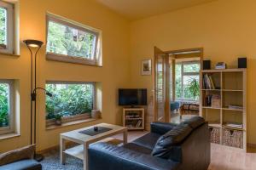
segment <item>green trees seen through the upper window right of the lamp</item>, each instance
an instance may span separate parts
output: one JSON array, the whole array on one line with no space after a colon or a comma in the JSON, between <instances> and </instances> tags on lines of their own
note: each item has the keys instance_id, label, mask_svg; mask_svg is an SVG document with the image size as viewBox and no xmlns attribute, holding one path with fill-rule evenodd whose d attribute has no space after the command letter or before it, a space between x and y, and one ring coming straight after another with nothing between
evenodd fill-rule
<instances>
[{"instance_id":1,"label":"green trees seen through the upper window right of the lamp","mask_svg":"<svg viewBox=\"0 0 256 170\"><path fill-rule=\"evenodd\" d=\"M93 59L96 36L49 21L47 52Z\"/></svg>"}]
</instances>

